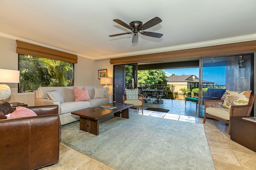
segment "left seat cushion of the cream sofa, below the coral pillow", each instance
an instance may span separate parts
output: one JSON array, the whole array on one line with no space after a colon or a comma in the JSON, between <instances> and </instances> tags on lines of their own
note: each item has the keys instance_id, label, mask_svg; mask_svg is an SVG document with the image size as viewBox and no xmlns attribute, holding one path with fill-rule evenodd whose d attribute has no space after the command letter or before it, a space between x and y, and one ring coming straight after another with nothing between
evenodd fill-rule
<instances>
[{"instance_id":1,"label":"left seat cushion of the cream sofa, below the coral pillow","mask_svg":"<svg viewBox=\"0 0 256 170\"><path fill-rule=\"evenodd\" d=\"M60 104L60 114L70 113L72 111L86 109L90 107L90 102L65 102Z\"/></svg>"}]
</instances>

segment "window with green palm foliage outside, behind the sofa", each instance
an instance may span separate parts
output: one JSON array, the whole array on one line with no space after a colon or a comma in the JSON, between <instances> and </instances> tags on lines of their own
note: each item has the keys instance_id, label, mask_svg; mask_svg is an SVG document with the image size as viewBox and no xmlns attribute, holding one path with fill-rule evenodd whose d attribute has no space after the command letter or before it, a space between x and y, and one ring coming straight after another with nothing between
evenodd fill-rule
<instances>
[{"instance_id":1,"label":"window with green palm foliage outside, behind the sofa","mask_svg":"<svg viewBox=\"0 0 256 170\"><path fill-rule=\"evenodd\" d=\"M19 54L18 92L34 92L43 86L73 86L74 64Z\"/></svg>"}]
</instances>

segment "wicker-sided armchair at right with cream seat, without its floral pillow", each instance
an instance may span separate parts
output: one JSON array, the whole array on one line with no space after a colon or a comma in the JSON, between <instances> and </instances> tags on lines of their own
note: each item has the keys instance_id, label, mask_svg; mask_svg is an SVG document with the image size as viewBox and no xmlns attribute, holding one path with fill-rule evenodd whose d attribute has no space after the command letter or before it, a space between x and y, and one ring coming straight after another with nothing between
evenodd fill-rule
<instances>
[{"instance_id":1,"label":"wicker-sided armchair at right with cream seat, without its floral pillow","mask_svg":"<svg viewBox=\"0 0 256 170\"><path fill-rule=\"evenodd\" d=\"M206 121L206 117L212 117L218 121L223 121L229 124L228 134L230 135L230 117L232 116L250 116L252 111L252 106L254 104L255 95L251 94L249 98L248 104L243 105L231 105L229 108L224 108L223 104L225 101L223 100L205 100L204 101L204 121ZM241 101L238 99L238 102Z\"/></svg>"}]
</instances>

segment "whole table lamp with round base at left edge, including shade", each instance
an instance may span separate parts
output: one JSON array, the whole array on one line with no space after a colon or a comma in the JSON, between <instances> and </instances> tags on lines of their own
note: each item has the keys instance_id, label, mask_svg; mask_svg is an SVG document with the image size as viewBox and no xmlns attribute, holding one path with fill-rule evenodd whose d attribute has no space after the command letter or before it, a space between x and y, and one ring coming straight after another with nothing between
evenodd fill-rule
<instances>
[{"instance_id":1,"label":"whole table lamp with round base at left edge, including shade","mask_svg":"<svg viewBox=\"0 0 256 170\"><path fill-rule=\"evenodd\" d=\"M11 96L11 89L4 83L19 83L20 71L19 70L6 70L0 69L0 100L5 100ZM0 102L0 104L3 102Z\"/></svg>"}]
</instances>

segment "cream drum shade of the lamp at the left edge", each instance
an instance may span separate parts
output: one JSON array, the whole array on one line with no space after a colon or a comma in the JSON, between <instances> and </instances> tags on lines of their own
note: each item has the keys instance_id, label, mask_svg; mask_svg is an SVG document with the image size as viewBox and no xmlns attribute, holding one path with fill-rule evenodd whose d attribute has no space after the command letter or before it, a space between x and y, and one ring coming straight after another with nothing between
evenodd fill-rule
<instances>
[{"instance_id":1,"label":"cream drum shade of the lamp at the left edge","mask_svg":"<svg viewBox=\"0 0 256 170\"><path fill-rule=\"evenodd\" d=\"M20 71L19 70L6 70L0 69L0 82L1 83L19 83Z\"/></svg>"}]
</instances>

